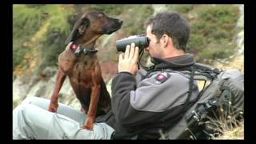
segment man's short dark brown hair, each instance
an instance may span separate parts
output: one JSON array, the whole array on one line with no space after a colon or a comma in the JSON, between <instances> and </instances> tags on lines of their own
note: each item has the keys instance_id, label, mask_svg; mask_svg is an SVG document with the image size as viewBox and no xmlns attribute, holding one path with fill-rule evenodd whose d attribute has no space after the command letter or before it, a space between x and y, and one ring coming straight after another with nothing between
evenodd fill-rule
<instances>
[{"instance_id":1,"label":"man's short dark brown hair","mask_svg":"<svg viewBox=\"0 0 256 144\"><path fill-rule=\"evenodd\" d=\"M186 51L186 43L190 37L190 26L186 19L178 13L158 13L150 18L146 25L152 25L151 33L156 35L158 40L163 34L172 38L174 47Z\"/></svg>"}]
</instances>

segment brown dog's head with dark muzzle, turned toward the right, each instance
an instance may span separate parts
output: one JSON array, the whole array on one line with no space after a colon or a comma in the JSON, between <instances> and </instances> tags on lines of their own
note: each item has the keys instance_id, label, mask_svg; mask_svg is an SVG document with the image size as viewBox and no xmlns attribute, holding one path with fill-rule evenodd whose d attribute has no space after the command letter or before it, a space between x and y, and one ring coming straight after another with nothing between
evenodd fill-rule
<instances>
[{"instance_id":1,"label":"brown dog's head with dark muzzle, turned toward the right","mask_svg":"<svg viewBox=\"0 0 256 144\"><path fill-rule=\"evenodd\" d=\"M80 38L86 34L87 30L94 34L112 34L122 26L122 20L110 18L100 11L91 11L82 14L82 17L75 22L70 36L66 39L66 44Z\"/></svg>"}]
</instances>

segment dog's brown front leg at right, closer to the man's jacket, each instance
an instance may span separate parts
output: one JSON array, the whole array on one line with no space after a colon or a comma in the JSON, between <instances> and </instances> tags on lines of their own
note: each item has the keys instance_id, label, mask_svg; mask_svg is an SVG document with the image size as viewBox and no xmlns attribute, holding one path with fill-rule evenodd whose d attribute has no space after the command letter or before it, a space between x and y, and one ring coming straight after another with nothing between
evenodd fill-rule
<instances>
[{"instance_id":1,"label":"dog's brown front leg at right, closer to the man's jacket","mask_svg":"<svg viewBox=\"0 0 256 144\"><path fill-rule=\"evenodd\" d=\"M86 122L82 126L85 129L92 130L94 128L94 120L98 107L98 99L100 94L100 85L93 86L90 94L90 106L87 113Z\"/></svg>"}]
</instances>

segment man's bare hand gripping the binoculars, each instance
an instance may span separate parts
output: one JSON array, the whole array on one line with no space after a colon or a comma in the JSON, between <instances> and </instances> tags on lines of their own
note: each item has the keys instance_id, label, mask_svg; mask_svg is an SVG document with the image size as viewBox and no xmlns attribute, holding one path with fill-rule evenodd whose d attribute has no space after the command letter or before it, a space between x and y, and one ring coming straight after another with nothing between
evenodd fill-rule
<instances>
[{"instance_id":1,"label":"man's bare hand gripping the binoculars","mask_svg":"<svg viewBox=\"0 0 256 144\"><path fill-rule=\"evenodd\" d=\"M135 47L134 43L126 46L125 53L119 55L118 73L129 72L136 74L138 71L138 46Z\"/></svg>"}]
</instances>

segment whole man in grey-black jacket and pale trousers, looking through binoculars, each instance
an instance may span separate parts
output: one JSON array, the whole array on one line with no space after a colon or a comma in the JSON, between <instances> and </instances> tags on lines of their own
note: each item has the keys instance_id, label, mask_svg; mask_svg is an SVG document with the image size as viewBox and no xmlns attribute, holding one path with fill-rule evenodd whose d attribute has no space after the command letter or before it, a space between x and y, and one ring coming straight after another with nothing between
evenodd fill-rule
<instances>
[{"instance_id":1,"label":"whole man in grey-black jacket and pale trousers, looking through binoculars","mask_svg":"<svg viewBox=\"0 0 256 144\"><path fill-rule=\"evenodd\" d=\"M112 82L112 109L98 117L94 130L80 128L84 114L60 105L57 114L46 111L49 101L28 98L13 112L13 138L155 139L175 125L198 95L196 83L178 70L191 70L186 54L190 28L176 13L150 18L146 47L154 66L138 70L138 47L126 46L119 55L118 74ZM45 110L44 110L45 109Z\"/></svg>"}]
</instances>

